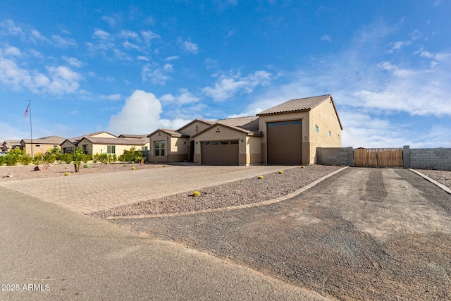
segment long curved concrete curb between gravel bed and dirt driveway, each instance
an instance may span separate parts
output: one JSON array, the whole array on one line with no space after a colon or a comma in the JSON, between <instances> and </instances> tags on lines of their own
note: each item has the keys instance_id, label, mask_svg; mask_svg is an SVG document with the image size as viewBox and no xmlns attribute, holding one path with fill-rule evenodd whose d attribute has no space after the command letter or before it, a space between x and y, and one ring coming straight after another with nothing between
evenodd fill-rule
<instances>
[{"instance_id":1,"label":"long curved concrete curb between gravel bed and dirt driveway","mask_svg":"<svg viewBox=\"0 0 451 301\"><path fill-rule=\"evenodd\" d=\"M340 171L344 171L348 167L349 166L345 166L343 168L338 169L337 171L333 171L332 173L328 173L326 176L323 176L322 178L319 178L318 180L315 180L315 181L311 182L309 185L305 185L303 188L299 188L298 190L296 190L294 192L291 192L288 195L283 195L282 197L277 197L276 199L268 199L267 201L262 201L262 202L258 202L258 203L242 204L242 205L237 205L237 206L230 206L230 207L224 207L224 208L215 208L215 209L203 209L203 210L199 210L199 211L176 212L176 213L168 213L168 214L142 214L142 215L131 215L131 216L109 216L109 217L106 218L106 220L115 220L115 219L152 219L152 218L156 218L156 217L187 216L187 215L194 215L194 214L202 214L202 213L210 213L210 212L221 212L221 211L232 211L232 210L238 210L238 209L266 206L268 204L274 204L274 203L277 203L277 202L284 201L285 199L290 199L292 197L295 197L296 195L299 195L301 192L304 192L305 190L309 190L310 188L314 187L314 185L322 182L323 180L326 180L326 178L330 178L331 176L335 175L336 173L339 173Z\"/></svg>"}]
</instances>

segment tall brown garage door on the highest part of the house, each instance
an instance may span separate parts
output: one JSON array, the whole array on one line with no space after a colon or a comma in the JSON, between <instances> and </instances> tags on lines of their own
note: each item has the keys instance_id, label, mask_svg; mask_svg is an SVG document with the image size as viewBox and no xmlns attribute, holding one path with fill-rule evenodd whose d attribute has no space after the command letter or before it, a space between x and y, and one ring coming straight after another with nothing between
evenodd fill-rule
<instances>
[{"instance_id":1,"label":"tall brown garage door on the highest part of the house","mask_svg":"<svg viewBox=\"0 0 451 301\"><path fill-rule=\"evenodd\" d=\"M302 121L266 124L268 164L302 164Z\"/></svg>"}]
</instances>

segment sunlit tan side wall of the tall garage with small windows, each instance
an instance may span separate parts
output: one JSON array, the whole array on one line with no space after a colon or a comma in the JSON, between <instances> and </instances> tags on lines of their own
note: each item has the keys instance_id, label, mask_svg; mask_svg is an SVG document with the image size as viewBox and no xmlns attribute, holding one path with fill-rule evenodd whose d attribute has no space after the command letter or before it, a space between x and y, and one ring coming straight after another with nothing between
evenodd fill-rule
<instances>
[{"instance_id":1,"label":"sunlit tan side wall of the tall garage with small windows","mask_svg":"<svg viewBox=\"0 0 451 301\"><path fill-rule=\"evenodd\" d=\"M315 132L316 125L319 127L319 133ZM331 101L322 102L310 111L309 135L310 164L316 163L317 147L341 147L342 130Z\"/></svg>"}]
</instances>

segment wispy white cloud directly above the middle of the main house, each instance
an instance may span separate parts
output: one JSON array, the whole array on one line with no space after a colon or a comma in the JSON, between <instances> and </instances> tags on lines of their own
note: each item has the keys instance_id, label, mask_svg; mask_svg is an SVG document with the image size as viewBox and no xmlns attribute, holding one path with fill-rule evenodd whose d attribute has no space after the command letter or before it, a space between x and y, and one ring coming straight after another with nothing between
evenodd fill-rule
<instances>
[{"instance_id":1,"label":"wispy white cloud directly above the middle of the main house","mask_svg":"<svg viewBox=\"0 0 451 301\"><path fill-rule=\"evenodd\" d=\"M264 70L256 71L245 77L237 74L222 74L213 87L205 87L202 91L217 102L223 102L238 92L252 92L258 85L266 85L271 80L271 73Z\"/></svg>"}]
</instances>

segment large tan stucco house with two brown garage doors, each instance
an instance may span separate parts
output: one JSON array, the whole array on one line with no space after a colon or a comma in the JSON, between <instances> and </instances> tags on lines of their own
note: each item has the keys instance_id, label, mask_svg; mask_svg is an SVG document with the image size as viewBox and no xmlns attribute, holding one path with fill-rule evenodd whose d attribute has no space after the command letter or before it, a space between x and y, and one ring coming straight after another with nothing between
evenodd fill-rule
<instances>
[{"instance_id":1,"label":"large tan stucco house with two brown garage doors","mask_svg":"<svg viewBox=\"0 0 451 301\"><path fill-rule=\"evenodd\" d=\"M317 147L341 147L342 124L330 94L292 99L257 116L194 120L149 136L151 161L210 165L316 163Z\"/></svg>"}]
</instances>

